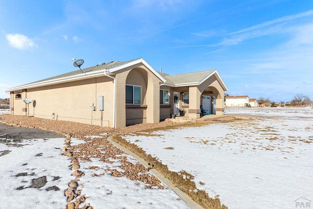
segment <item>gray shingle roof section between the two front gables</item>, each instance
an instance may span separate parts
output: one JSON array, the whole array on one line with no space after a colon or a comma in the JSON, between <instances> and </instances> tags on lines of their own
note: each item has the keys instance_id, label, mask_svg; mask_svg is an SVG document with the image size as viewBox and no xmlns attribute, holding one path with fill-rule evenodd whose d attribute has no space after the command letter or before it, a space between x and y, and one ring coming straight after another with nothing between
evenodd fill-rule
<instances>
[{"instance_id":1,"label":"gray shingle roof section between the two front gables","mask_svg":"<svg viewBox=\"0 0 313 209\"><path fill-rule=\"evenodd\" d=\"M165 78L166 83L183 84L183 83L200 82L214 71L215 70L204 70L204 71L199 71L199 72L189 72L189 73L176 74L176 75L169 75L163 72L157 72L157 73L159 73L163 78Z\"/></svg>"}]
</instances>

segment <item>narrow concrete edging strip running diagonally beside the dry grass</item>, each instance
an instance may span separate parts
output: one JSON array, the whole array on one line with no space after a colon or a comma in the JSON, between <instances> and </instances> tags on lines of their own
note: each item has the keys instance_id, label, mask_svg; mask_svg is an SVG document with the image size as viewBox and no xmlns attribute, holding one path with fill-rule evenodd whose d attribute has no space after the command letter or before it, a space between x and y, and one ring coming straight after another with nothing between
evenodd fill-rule
<instances>
[{"instance_id":1,"label":"narrow concrete edging strip running diagonally beside the dry grass","mask_svg":"<svg viewBox=\"0 0 313 209\"><path fill-rule=\"evenodd\" d=\"M139 161L141 164L143 164L146 168L148 168L148 163L145 162L142 158L131 152L130 150L126 149L125 147L121 146L120 144L112 141L111 137L107 139L110 141L113 145L119 147L121 150L125 151L129 155L133 156L137 161ZM176 194L179 195L179 197L187 203L188 206L190 206L192 209L203 209L198 203L193 201L189 196L187 196L185 193L183 193L179 188L175 187L172 182L170 182L168 179L166 179L162 174L160 174L156 169L152 168L149 170L153 175L156 176L164 185L172 189Z\"/></svg>"}]
</instances>

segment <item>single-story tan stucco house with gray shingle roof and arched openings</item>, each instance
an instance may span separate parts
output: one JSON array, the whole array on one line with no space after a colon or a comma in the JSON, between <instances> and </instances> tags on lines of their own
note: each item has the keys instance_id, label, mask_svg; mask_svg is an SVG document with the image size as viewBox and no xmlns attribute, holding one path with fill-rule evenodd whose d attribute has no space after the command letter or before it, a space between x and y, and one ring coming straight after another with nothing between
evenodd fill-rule
<instances>
[{"instance_id":1,"label":"single-story tan stucco house with gray shingle roof and arched openings","mask_svg":"<svg viewBox=\"0 0 313 209\"><path fill-rule=\"evenodd\" d=\"M10 93L12 115L118 128L158 123L179 111L200 118L203 103L210 104L211 114L224 115L224 91L217 70L168 75L139 58L103 63L5 92ZM27 105L25 98L33 102Z\"/></svg>"}]
</instances>

